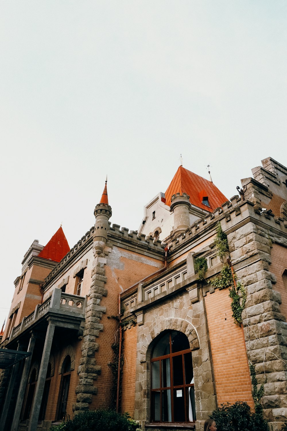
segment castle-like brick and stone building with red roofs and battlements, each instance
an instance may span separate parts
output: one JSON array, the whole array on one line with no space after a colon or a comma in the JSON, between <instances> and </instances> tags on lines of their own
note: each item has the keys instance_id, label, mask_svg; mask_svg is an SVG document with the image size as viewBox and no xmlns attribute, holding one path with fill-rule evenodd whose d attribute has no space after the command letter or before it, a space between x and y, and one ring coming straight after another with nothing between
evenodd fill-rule
<instances>
[{"instance_id":1,"label":"castle-like brick and stone building with red roofs and battlements","mask_svg":"<svg viewBox=\"0 0 287 431\"><path fill-rule=\"evenodd\" d=\"M228 200L180 166L138 231L109 223L105 185L74 247L62 227L45 247L34 240L0 334L1 430L47 431L105 407L145 431L199 431L221 403L254 408L250 364L281 429L287 168L269 157L252 173Z\"/></svg>"}]
</instances>

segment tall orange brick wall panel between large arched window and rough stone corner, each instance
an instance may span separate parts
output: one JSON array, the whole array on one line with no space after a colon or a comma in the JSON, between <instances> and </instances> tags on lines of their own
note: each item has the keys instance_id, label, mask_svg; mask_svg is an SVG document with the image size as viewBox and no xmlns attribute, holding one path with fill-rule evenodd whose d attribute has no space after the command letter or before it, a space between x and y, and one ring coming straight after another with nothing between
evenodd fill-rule
<instances>
[{"instance_id":1,"label":"tall orange brick wall panel between large arched window and rough stone corner","mask_svg":"<svg viewBox=\"0 0 287 431\"><path fill-rule=\"evenodd\" d=\"M243 331L234 323L228 294L216 289L205 297L217 402L246 401L253 407Z\"/></svg>"}]
</instances>

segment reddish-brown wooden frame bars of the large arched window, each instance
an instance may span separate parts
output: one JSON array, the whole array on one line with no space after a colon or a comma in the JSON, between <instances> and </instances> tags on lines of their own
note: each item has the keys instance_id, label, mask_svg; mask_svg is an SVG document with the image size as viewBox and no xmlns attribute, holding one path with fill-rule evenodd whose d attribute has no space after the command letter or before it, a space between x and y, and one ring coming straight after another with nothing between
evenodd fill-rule
<instances>
[{"instance_id":1,"label":"reddish-brown wooden frame bars of the large arched window","mask_svg":"<svg viewBox=\"0 0 287 431\"><path fill-rule=\"evenodd\" d=\"M178 331L176 331L178 332ZM153 424L188 424L191 426L195 425L195 420L193 422L190 422L188 420L188 408L187 408L187 390L189 387L194 388L194 383L186 384L185 383L185 363L184 363L184 355L186 353L191 353L190 349L181 350L179 352L172 353L172 331L169 331L170 335L170 353L163 356L157 356L156 358L151 358L151 398L150 398L150 412L151 412L151 418L150 423ZM160 340L158 340L158 343L160 343ZM183 384L181 385L173 385L173 358L175 356L182 356L182 372L183 372ZM162 360L163 359L170 359L170 386L163 387L162 386ZM153 362L159 362L159 378L160 378L160 387L158 388L152 388L152 363ZM185 421L182 422L175 422L174 421L174 390L181 389L183 391L183 397L184 397L184 409L185 409ZM171 422L163 421L163 391L164 390L170 390L170 397L171 397ZM153 402L153 393L160 392L160 420L155 421L154 418L154 402Z\"/></svg>"}]
</instances>

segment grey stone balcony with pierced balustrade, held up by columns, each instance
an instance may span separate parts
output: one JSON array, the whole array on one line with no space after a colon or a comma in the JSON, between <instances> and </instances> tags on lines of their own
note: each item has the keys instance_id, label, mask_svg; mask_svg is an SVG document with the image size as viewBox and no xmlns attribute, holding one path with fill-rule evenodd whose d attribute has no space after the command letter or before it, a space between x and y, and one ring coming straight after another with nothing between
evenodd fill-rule
<instances>
[{"instance_id":1,"label":"grey stone balcony with pierced balustrade, held up by columns","mask_svg":"<svg viewBox=\"0 0 287 431\"><path fill-rule=\"evenodd\" d=\"M86 302L87 297L69 295L63 293L61 289L54 289L49 298L38 304L31 314L12 329L8 343L31 329L46 327L48 318L53 319L56 326L80 330L85 320Z\"/></svg>"}]
</instances>

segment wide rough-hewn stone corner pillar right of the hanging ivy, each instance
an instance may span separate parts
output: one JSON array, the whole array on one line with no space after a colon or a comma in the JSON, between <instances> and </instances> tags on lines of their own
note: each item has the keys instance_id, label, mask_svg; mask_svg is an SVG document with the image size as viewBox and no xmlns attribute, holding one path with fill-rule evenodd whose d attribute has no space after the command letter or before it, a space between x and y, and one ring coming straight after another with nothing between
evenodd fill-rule
<instances>
[{"instance_id":1,"label":"wide rough-hewn stone corner pillar right of the hanging ivy","mask_svg":"<svg viewBox=\"0 0 287 431\"><path fill-rule=\"evenodd\" d=\"M232 264L247 290L242 312L245 343L259 384L264 384L263 414L273 431L287 418L287 325L280 313L281 295L269 271L273 233L247 222L228 234Z\"/></svg>"}]
</instances>

